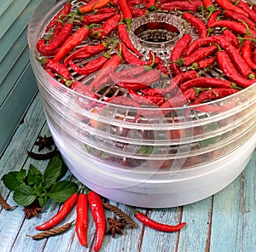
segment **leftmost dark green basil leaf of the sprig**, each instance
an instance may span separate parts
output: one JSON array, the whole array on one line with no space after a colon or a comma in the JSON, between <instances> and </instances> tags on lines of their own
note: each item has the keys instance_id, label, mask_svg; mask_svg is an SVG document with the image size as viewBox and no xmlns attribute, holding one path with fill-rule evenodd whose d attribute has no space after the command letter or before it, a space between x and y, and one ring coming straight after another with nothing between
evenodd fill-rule
<instances>
[{"instance_id":1,"label":"leftmost dark green basil leaf of the sprig","mask_svg":"<svg viewBox=\"0 0 256 252\"><path fill-rule=\"evenodd\" d=\"M25 186L26 170L21 169L20 171L11 171L6 175L3 175L2 180L4 186L8 187L9 190L15 191L20 186Z\"/></svg>"}]
</instances>

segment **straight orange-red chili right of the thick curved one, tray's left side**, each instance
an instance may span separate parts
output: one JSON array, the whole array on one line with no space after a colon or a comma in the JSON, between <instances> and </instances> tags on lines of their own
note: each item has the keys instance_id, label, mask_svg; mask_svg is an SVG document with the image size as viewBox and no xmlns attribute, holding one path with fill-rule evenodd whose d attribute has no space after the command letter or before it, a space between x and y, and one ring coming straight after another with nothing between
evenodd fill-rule
<instances>
[{"instance_id":1,"label":"straight orange-red chili right of the thick curved one, tray's left side","mask_svg":"<svg viewBox=\"0 0 256 252\"><path fill-rule=\"evenodd\" d=\"M83 26L79 30L75 31L72 36L68 37L66 42L61 45L61 48L55 54L53 60L62 60L71 50L81 43L85 37L90 34L88 26Z\"/></svg>"}]
</instances>

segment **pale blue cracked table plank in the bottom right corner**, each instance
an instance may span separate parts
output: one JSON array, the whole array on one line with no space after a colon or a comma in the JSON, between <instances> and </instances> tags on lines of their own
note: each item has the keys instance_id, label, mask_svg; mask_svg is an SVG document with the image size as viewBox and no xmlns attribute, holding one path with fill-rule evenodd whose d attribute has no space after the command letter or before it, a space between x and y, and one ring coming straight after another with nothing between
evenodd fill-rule
<instances>
[{"instance_id":1,"label":"pale blue cracked table plank in the bottom right corner","mask_svg":"<svg viewBox=\"0 0 256 252\"><path fill-rule=\"evenodd\" d=\"M211 252L255 250L255 167L256 150L242 174L214 196Z\"/></svg>"}]
</instances>

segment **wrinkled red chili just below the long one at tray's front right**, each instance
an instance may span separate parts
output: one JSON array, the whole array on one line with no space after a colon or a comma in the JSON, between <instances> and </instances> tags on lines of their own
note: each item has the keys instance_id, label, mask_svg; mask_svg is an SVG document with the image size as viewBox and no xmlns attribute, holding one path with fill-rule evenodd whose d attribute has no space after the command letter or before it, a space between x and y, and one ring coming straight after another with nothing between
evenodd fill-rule
<instances>
[{"instance_id":1,"label":"wrinkled red chili just below the long one at tray's front right","mask_svg":"<svg viewBox=\"0 0 256 252\"><path fill-rule=\"evenodd\" d=\"M209 90L201 91L193 101L193 105L201 104L202 102L206 102L206 101L218 100L218 99L227 97L231 94L236 94L236 92L238 92L237 89L225 89L225 88L209 89Z\"/></svg>"}]
</instances>

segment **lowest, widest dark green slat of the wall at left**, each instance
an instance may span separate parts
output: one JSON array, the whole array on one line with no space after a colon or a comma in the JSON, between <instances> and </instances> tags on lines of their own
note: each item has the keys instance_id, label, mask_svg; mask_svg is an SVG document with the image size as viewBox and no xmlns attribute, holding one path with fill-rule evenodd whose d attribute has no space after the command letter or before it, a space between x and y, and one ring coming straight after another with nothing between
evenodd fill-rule
<instances>
[{"instance_id":1,"label":"lowest, widest dark green slat of the wall at left","mask_svg":"<svg viewBox=\"0 0 256 252\"><path fill-rule=\"evenodd\" d=\"M37 90L32 68L27 65L15 83L14 89L0 107L0 153L9 142L10 136L20 123L21 117L26 112L26 108Z\"/></svg>"}]
</instances>

